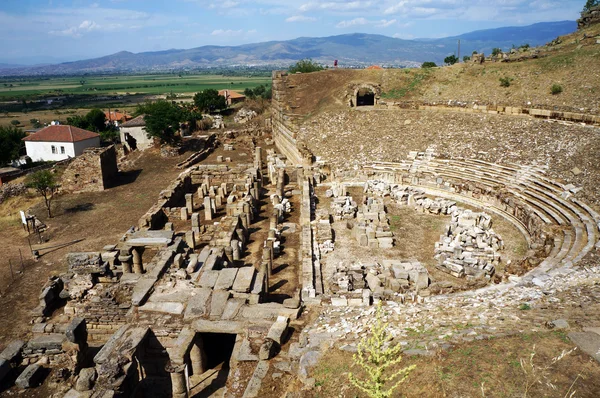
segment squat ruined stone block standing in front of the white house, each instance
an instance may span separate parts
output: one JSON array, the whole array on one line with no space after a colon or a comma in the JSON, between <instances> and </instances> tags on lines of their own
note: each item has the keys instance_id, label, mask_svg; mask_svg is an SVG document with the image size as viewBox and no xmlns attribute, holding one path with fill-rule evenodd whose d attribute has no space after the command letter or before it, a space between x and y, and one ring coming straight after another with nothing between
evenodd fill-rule
<instances>
[{"instance_id":1,"label":"squat ruined stone block standing in front of the white house","mask_svg":"<svg viewBox=\"0 0 600 398\"><path fill-rule=\"evenodd\" d=\"M88 148L67 167L62 188L70 192L95 192L109 188L118 173L115 146Z\"/></svg>"}]
</instances>

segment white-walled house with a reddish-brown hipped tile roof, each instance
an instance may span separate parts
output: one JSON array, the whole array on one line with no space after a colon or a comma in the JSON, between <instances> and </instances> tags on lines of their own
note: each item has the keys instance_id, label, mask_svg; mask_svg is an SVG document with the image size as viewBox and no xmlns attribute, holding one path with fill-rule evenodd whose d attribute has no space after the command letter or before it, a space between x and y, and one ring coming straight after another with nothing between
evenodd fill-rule
<instances>
[{"instance_id":1,"label":"white-walled house with a reddish-brown hipped tile roof","mask_svg":"<svg viewBox=\"0 0 600 398\"><path fill-rule=\"evenodd\" d=\"M68 125L48 126L23 138L27 156L34 162L79 156L85 148L99 147L100 135Z\"/></svg>"}]
</instances>

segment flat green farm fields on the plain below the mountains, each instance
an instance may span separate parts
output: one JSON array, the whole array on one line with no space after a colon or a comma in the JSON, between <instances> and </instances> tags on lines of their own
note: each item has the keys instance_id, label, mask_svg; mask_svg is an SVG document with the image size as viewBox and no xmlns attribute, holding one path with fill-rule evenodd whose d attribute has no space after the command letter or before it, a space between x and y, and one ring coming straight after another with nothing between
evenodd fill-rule
<instances>
[{"instance_id":1,"label":"flat green farm fields on the plain below the mountains","mask_svg":"<svg viewBox=\"0 0 600 398\"><path fill-rule=\"evenodd\" d=\"M10 78L0 79L0 98L30 99L63 94L185 94L207 88L241 92L260 84L271 84L271 78L206 74Z\"/></svg>"}]
</instances>

